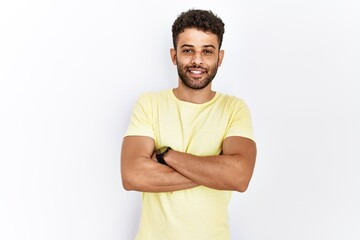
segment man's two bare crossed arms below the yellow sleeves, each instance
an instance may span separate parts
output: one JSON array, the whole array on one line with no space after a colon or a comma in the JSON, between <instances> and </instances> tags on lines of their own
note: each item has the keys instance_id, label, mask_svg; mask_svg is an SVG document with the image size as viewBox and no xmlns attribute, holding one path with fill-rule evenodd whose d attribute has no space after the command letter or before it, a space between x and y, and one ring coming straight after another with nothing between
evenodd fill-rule
<instances>
[{"instance_id":1,"label":"man's two bare crossed arms below the yellow sleeves","mask_svg":"<svg viewBox=\"0 0 360 240\"><path fill-rule=\"evenodd\" d=\"M256 144L243 137L224 140L222 154L195 156L170 150L160 164L154 157L154 140L127 136L121 151L121 176L126 190L172 192L199 185L244 192L251 180Z\"/></svg>"}]
</instances>

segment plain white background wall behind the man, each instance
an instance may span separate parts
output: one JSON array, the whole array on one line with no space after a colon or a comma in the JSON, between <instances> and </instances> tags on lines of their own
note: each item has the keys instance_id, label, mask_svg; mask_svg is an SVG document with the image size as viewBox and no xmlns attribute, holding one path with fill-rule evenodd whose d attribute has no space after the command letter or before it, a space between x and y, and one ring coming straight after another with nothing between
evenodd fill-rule
<instances>
[{"instance_id":1,"label":"plain white background wall behind the man","mask_svg":"<svg viewBox=\"0 0 360 240\"><path fill-rule=\"evenodd\" d=\"M226 24L213 87L245 99L258 144L233 239L360 239L356 0L1 1L0 239L133 239L122 136L140 93L176 86L171 25L193 7Z\"/></svg>"}]
</instances>

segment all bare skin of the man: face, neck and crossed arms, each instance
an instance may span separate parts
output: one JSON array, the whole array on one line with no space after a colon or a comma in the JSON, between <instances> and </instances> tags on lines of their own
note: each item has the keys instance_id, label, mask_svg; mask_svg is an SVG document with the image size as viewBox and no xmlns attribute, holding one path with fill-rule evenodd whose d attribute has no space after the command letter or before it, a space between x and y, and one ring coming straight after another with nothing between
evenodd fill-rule
<instances>
[{"instance_id":1,"label":"all bare skin of the man: face, neck and crossed arms","mask_svg":"<svg viewBox=\"0 0 360 240\"><path fill-rule=\"evenodd\" d=\"M178 68L175 96L195 104L215 96L211 80L221 66L224 51L217 36L194 28L178 37L176 49L170 49L171 60ZM196 186L218 190L246 191L251 180L256 144L244 137L228 137L222 154L195 156L170 150L164 157L169 166L156 161L154 140L145 136L127 136L121 151L121 176L126 190L172 192Z\"/></svg>"}]
</instances>

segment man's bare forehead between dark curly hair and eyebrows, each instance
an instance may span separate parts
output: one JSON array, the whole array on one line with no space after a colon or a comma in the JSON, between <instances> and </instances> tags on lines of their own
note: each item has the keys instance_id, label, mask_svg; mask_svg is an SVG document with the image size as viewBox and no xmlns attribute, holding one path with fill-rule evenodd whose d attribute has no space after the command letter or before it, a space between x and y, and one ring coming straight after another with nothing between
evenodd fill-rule
<instances>
[{"instance_id":1,"label":"man's bare forehead between dark curly hair and eyebrows","mask_svg":"<svg viewBox=\"0 0 360 240\"><path fill-rule=\"evenodd\" d=\"M204 32L196 28L187 28L178 36L177 47L182 45L192 45L194 47L213 45L218 48L219 41L214 33Z\"/></svg>"}]
</instances>

